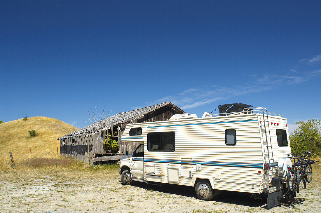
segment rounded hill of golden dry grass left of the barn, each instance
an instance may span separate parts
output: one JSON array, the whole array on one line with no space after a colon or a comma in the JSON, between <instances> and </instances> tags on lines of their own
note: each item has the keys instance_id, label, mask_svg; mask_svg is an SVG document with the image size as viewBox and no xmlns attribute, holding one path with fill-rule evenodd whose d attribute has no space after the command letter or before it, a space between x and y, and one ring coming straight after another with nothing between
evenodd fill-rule
<instances>
[{"instance_id":1,"label":"rounded hill of golden dry grass left of the barn","mask_svg":"<svg viewBox=\"0 0 321 213\"><path fill-rule=\"evenodd\" d=\"M30 137L28 131L36 130L38 136ZM56 139L70 132L78 130L55 118L30 117L22 118L0 124L0 156L2 161L10 160L9 151L13 158L19 162L31 157L56 157L59 141ZM59 150L59 149L58 149Z\"/></svg>"}]
</instances>

